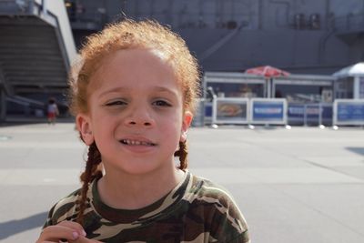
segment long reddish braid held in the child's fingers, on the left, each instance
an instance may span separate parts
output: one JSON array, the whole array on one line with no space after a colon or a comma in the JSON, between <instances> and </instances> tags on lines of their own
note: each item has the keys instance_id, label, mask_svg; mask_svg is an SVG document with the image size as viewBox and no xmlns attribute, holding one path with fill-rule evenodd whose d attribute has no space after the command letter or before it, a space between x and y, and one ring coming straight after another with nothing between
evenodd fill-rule
<instances>
[{"instance_id":1,"label":"long reddish braid held in the child's fingers, on the left","mask_svg":"<svg viewBox=\"0 0 364 243\"><path fill-rule=\"evenodd\" d=\"M76 222L81 224L84 220L84 212L86 209L86 195L88 191L89 184L95 179L102 177L101 170L98 169L99 164L101 163L101 155L98 151L96 143L92 143L90 147L88 147L87 153L87 161L86 161L86 169L84 173L81 174L80 180L83 183L81 188L81 199L79 199L76 203L79 207L79 212L76 218Z\"/></svg>"}]
</instances>

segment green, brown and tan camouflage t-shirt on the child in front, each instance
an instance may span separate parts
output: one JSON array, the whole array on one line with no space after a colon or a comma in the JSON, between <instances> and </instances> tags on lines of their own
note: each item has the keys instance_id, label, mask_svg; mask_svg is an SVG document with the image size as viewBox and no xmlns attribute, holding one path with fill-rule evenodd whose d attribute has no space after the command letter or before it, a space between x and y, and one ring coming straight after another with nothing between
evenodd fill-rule
<instances>
[{"instance_id":1,"label":"green, brown and tan camouflage t-shirt on the child in front","mask_svg":"<svg viewBox=\"0 0 364 243\"><path fill-rule=\"evenodd\" d=\"M50 210L45 227L75 220L79 190ZM146 208L126 210L104 204L94 181L87 192L87 238L102 242L250 242L248 227L225 189L187 172L167 196Z\"/></svg>"}]
</instances>

